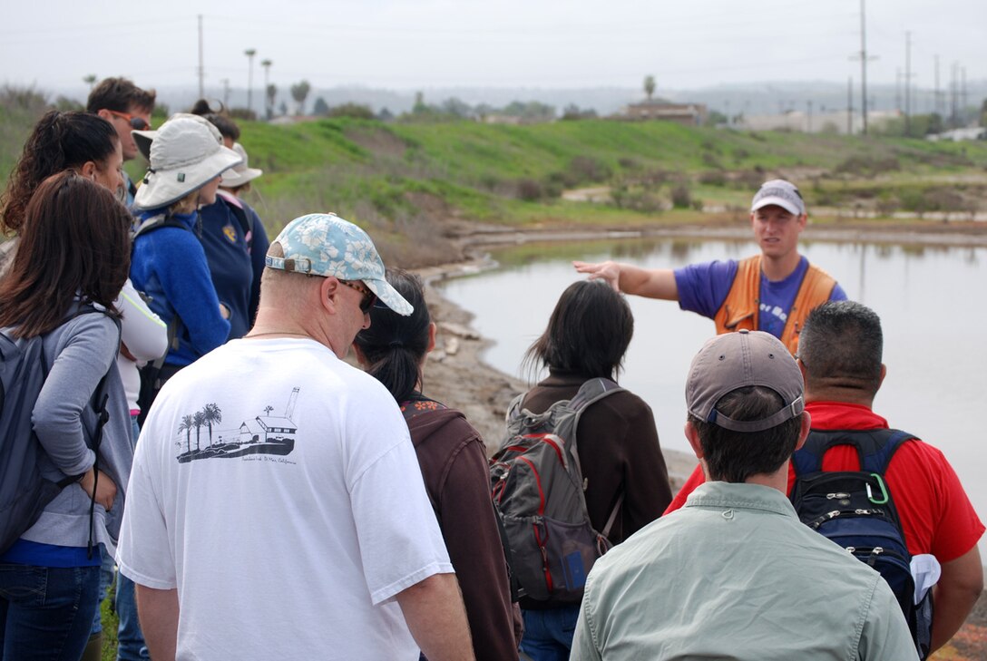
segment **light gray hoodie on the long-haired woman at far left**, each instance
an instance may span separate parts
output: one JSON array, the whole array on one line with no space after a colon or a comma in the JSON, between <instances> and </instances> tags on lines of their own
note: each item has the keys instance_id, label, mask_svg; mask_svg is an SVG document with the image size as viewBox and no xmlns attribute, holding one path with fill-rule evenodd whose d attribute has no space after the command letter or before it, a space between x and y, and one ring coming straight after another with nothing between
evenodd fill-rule
<instances>
[{"instance_id":1,"label":"light gray hoodie on the long-haired woman at far left","mask_svg":"<svg viewBox=\"0 0 987 661\"><path fill-rule=\"evenodd\" d=\"M103 428L99 468L114 480L116 499L109 513L96 505L93 543L103 544L114 553L133 462L126 396L119 373L115 367L110 369L119 350L119 331L106 315L85 314L47 333L43 346L48 376L32 421L46 453L40 459L41 474L49 479L77 476L93 467L96 455L89 446L97 415L92 402L100 379L109 370L106 393L110 419ZM69 484L21 538L41 544L85 547L89 541L89 504L90 498L82 487Z\"/></svg>"}]
</instances>

